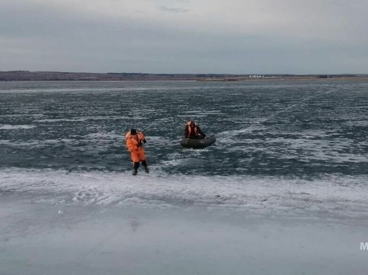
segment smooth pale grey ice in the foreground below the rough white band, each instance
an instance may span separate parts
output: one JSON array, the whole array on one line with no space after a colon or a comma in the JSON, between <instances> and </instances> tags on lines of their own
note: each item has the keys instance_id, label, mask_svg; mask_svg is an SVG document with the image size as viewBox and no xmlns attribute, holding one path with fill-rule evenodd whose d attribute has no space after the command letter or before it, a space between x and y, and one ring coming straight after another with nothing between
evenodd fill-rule
<instances>
[{"instance_id":1,"label":"smooth pale grey ice in the foreground below the rough white band","mask_svg":"<svg viewBox=\"0 0 368 275\"><path fill-rule=\"evenodd\" d=\"M21 198L1 200L0 216L4 275L368 273L368 251L360 250L367 221L77 207Z\"/></svg>"}]
</instances>

